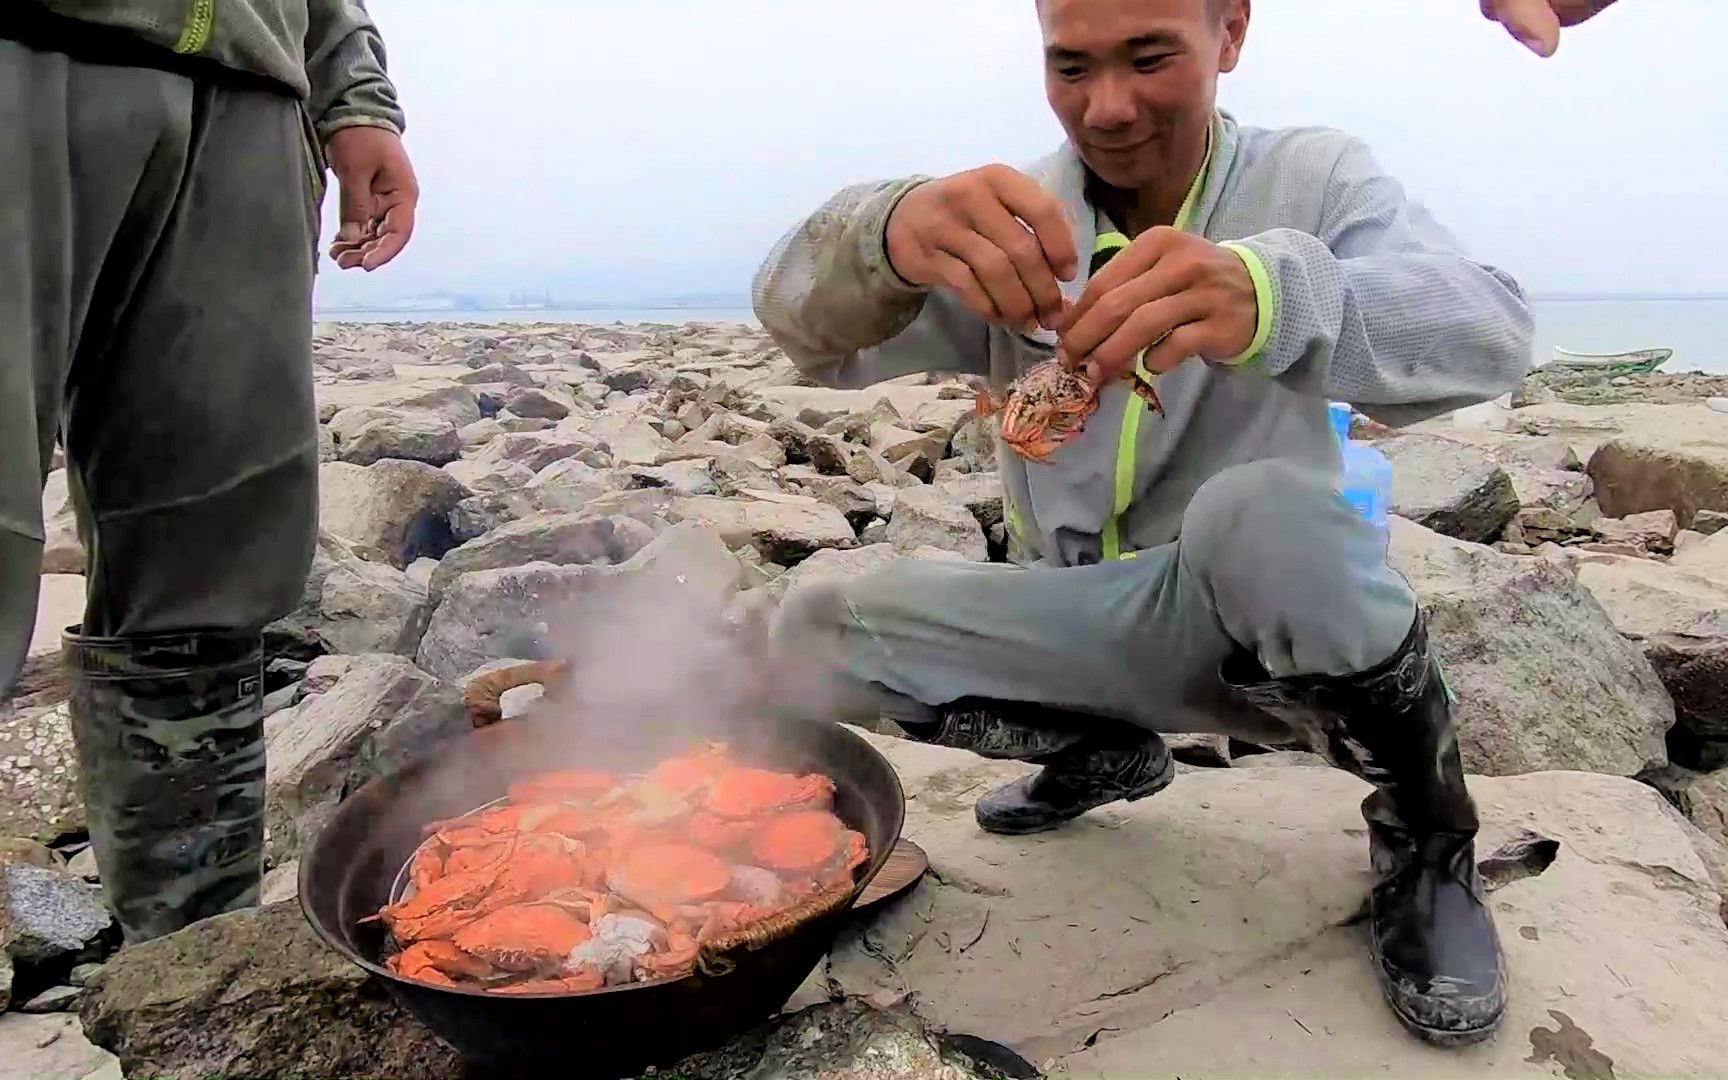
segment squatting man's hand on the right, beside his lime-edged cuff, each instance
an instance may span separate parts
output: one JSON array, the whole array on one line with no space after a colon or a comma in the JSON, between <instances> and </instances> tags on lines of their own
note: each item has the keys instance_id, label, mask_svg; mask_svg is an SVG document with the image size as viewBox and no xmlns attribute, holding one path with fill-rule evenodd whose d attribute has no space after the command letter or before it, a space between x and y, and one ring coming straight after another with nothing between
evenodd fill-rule
<instances>
[{"instance_id":1,"label":"squatting man's hand on the right, beside his lime-edged cuff","mask_svg":"<svg viewBox=\"0 0 1728 1080\"><path fill-rule=\"evenodd\" d=\"M1242 259L1211 240L1153 228L1087 282L1059 356L1099 382L1168 372L1189 356L1229 361L1255 342L1260 302Z\"/></svg>"}]
</instances>

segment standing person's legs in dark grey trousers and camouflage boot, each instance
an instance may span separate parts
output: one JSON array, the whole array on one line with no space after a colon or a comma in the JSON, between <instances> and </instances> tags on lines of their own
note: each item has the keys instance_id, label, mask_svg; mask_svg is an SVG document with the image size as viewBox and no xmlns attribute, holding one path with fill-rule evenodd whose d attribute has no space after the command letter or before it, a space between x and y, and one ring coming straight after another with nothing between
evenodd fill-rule
<instances>
[{"instance_id":1,"label":"standing person's legs in dark grey trousers and camouflage boot","mask_svg":"<svg viewBox=\"0 0 1728 1080\"><path fill-rule=\"evenodd\" d=\"M0 41L0 679L47 448L88 550L67 627L102 886L131 942L257 902L263 627L316 537L316 199L290 97Z\"/></svg>"}]
</instances>

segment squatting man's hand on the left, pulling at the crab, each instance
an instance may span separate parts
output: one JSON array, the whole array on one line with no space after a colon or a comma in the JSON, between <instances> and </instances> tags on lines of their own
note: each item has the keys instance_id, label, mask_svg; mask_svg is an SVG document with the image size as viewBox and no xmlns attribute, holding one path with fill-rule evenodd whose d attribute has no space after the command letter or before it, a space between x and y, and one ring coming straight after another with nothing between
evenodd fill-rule
<instances>
[{"instance_id":1,"label":"squatting man's hand on the left, pulling at the crab","mask_svg":"<svg viewBox=\"0 0 1728 1080\"><path fill-rule=\"evenodd\" d=\"M907 192L888 218L888 263L914 285L947 285L985 321L1021 330L1058 328L1066 308L1058 278L1080 271L1063 204L997 164Z\"/></svg>"}]
</instances>

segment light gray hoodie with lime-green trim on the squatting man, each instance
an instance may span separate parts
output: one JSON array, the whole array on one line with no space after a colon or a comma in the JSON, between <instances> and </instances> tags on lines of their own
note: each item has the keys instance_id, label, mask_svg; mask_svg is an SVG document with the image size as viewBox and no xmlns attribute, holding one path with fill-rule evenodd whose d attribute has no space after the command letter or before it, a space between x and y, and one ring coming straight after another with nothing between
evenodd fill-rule
<instances>
[{"instance_id":1,"label":"light gray hoodie with lime-green trim on the squatting man","mask_svg":"<svg viewBox=\"0 0 1728 1080\"><path fill-rule=\"evenodd\" d=\"M1071 145L1025 169L1066 207L1085 287L1101 213ZM992 327L949 292L888 266L885 226L928 176L847 187L788 232L757 271L757 318L810 377L864 387L962 372L997 387L1054 353L1047 334ZM1261 458L1336 472L1329 401L1407 425L1488 401L1529 368L1519 285L1465 256L1356 138L1263 130L1220 111L1177 228L1232 245L1261 325L1236 365L1191 358L1158 377L1165 413L1127 384L1104 387L1085 430L1047 463L999 449L1007 517L1028 560L1082 565L1173 541L1194 491Z\"/></svg>"}]
</instances>

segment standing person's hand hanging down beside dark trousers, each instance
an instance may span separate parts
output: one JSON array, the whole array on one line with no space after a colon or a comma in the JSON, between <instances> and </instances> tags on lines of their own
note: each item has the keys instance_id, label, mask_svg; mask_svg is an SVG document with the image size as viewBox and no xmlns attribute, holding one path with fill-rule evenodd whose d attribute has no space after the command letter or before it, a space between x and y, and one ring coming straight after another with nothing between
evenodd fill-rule
<instances>
[{"instance_id":1,"label":"standing person's hand hanging down beside dark trousers","mask_svg":"<svg viewBox=\"0 0 1728 1080\"><path fill-rule=\"evenodd\" d=\"M342 128L330 137L328 157L342 187L342 226L330 244L330 257L342 270L377 270L394 259L415 232L420 185L403 138L387 128Z\"/></svg>"}]
</instances>

